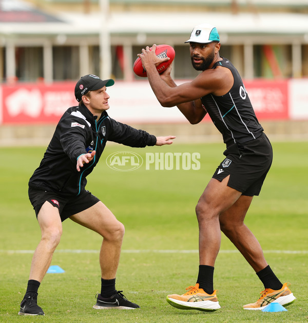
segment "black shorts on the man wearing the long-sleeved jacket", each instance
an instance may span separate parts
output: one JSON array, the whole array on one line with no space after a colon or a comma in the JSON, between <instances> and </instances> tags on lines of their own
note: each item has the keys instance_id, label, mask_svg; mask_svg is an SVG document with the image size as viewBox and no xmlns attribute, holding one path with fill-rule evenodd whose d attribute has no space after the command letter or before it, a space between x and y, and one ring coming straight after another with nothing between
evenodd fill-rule
<instances>
[{"instance_id":1,"label":"black shorts on the man wearing the long-sleeved jacket","mask_svg":"<svg viewBox=\"0 0 308 323\"><path fill-rule=\"evenodd\" d=\"M36 218L42 205L48 201L59 210L62 222L71 215L87 210L87 208L100 201L96 196L86 190L81 192L78 196L69 197L63 196L63 194L35 189L32 187L29 187L28 193Z\"/></svg>"}]
</instances>

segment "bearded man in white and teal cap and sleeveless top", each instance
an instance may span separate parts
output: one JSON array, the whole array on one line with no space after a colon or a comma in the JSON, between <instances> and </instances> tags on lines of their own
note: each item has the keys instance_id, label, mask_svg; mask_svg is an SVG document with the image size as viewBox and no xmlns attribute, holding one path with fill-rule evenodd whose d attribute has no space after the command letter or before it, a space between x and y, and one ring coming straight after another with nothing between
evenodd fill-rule
<instances>
[{"instance_id":1,"label":"bearded man in white and teal cap and sleeveless top","mask_svg":"<svg viewBox=\"0 0 308 323\"><path fill-rule=\"evenodd\" d=\"M138 56L158 101L177 106L191 124L208 113L226 144L225 158L215 170L196 206L199 222L199 274L195 286L183 295L168 295L179 309L216 311L220 308L213 288L215 260L221 231L234 243L264 284L264 291L247 310L262 310L275 301L287 306L295 300L288 284L282 284L266 262L261 246L244 224L255 195L259 195L271 167L272 146L259 124L239 72L219 55L220 39L215 26L196 26L185 43L190 45L192 66L201 73L191 82L176 85L171 65L159 74L156 66L166 59L155 55L156 45Z\"/></svg>"}]
</instances>

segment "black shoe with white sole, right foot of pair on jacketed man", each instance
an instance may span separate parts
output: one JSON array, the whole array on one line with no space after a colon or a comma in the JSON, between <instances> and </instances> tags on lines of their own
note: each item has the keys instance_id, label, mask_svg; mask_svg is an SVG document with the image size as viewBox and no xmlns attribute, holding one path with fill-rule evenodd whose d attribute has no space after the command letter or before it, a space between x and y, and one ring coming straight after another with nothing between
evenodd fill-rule
<instances>
[{"instance_id":1,"label":"black shoe with white sole, right foot of pair on jacketed man","mask_svg":"<svg viewBox=\"0 0 308 323\"><path fill-rule=\"evenodd\" d=\"M139 305L130 302L122 294L123 291L117 291L117 294L108 298L103 298L101 294L97 295L97 303L93 306L93 309L119 309L119 310L134 310L140 308Z\"/></svg>"}]
</instances>

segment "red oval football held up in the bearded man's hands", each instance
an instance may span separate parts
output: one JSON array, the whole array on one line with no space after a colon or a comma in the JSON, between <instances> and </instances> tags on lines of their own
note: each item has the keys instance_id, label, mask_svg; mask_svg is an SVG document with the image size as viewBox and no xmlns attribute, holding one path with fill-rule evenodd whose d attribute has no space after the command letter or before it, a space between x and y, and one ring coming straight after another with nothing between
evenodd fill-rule
<instances>
[{"instance_id":1,"label":"red oval football held up in the bearded man's hands","mask_svg":"<svg viewBox=\"0 0 308 323\"><path fill-rule=\"evenodd\" d=\"M151 49L152 47L150 48L150 50ZM176 52L174 48L169 45L157 45L155 53L159 58L170 58L169 61L163 62L156 67L157 71L159 73L162 73L172 63L175 58ZM142 66L140 57L138 57L137 60L133 63L133 71L139 77L147 77L146 70Z\"/></svg>"}]
</instances>

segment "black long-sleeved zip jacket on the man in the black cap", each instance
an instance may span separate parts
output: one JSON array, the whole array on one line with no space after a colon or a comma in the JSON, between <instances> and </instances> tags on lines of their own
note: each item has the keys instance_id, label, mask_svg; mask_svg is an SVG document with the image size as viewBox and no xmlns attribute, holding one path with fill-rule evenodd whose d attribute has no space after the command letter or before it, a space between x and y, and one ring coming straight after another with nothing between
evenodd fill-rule
<instances>
[{"instance_id":1,"label":"black long-sleeved zip jacket on the man in the black cap","mask_svg":"<svg viewBox=\"0 0 308 323\"><path fill-rule=\"evenodd\" d=\"M63 195L79 195L86 186L86 176L97 165L107 141L145 147L155 145L156 137L111 119L106 111L96 120L83 104L71 107L57 124L29 186ZM92 150L96 151L94 158L78 172L78 158Z\"/></svg>"}]
</instances>

